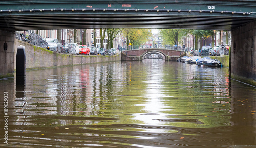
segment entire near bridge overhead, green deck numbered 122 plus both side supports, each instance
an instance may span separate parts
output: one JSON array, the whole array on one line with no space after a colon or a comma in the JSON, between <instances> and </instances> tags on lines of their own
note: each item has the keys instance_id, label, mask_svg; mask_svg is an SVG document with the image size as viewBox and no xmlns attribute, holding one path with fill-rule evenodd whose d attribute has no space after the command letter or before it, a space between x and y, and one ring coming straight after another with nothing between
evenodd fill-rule
<instances>
[{"instance_id":1,"label":"entire near bridge overhead, green deck numbered 122 plus both side supports","mask_svg":"<svg viewBox=\"0 0 256 148\"><path fill-rule=\"evenodd\" d=\"M8 48L0 50L0 75L14 72L16 30L212 29L232 31L231 77L256 85L255 13L254 0L1 1L0 46Z\"/></svg>"}]
</instances>

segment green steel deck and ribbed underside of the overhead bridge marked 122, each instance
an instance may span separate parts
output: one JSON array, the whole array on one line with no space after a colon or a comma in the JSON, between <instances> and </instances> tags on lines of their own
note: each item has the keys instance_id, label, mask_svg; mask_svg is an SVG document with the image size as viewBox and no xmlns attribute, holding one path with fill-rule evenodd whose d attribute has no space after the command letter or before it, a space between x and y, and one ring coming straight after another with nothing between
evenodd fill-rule
<instances>
[{"instance_id":1,"label":"green steel deck and ribbed underside of the overhead bridge marked 122","mask_svg":"<svg viewBox=\"0 0 256 148\"><path fill-rule=\"evenodd\" d=\"M254 0L1 1L0 30L177 28L234 30L256 18Z\"/></svg>"}]
</instances>

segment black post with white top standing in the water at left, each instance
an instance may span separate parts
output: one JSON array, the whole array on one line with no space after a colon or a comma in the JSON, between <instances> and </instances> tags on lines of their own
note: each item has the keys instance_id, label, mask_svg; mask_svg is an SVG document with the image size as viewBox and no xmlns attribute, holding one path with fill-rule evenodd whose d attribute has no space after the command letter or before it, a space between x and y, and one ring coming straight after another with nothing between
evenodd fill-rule
<instances>
[{"instance_id":1,"label":"black post with white top standing in the water at left","mask_svg":"<svg viewBox=\"0 0 256 148\"><path fill-rule=\"evenodd\" d=\"M18 46L16 55L16 76L25 77L26 76L26 54L25 47Z\"/></svg>"}]
</instances>

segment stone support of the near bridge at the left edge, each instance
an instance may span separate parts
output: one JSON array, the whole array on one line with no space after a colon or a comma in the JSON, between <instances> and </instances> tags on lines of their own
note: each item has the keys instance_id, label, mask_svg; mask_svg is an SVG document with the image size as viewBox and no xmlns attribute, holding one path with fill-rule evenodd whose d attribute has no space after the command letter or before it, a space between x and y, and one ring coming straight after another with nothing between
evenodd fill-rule
<instances>
[{"instance_id":1,"label":"stone support of the near bridge at the left edge","mask_svg":"<svg viewBox=\"0 0 256 148\"><path fill-rule=\"evenodd\" d=\"M14 77L14 40L14 33L0 31L0 78Z\"/></svg>"}]
</instances>

